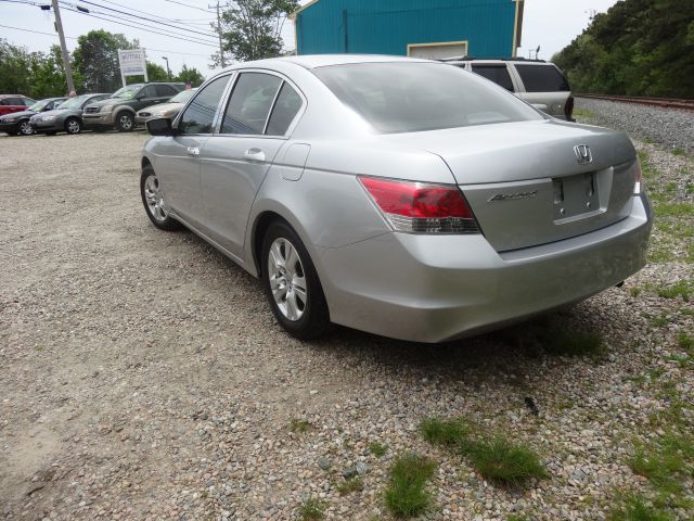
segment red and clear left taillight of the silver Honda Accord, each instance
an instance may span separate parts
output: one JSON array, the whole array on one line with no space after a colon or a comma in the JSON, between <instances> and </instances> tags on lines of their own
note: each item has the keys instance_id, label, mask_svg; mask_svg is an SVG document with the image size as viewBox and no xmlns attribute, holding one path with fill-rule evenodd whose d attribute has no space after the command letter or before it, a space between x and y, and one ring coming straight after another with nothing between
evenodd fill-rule
<instances>
[{"instance_id":1,"label":"red and clear left taillight of the silver Honda Accord","mask_svg":"<svg viewBox=\"0 0 694 521\"><path fill-rule=\"evenodd\" d=\"M359 180L397 231L479 233L475 216L455 186L375 177Z\"/></svg>"}]
</instances>

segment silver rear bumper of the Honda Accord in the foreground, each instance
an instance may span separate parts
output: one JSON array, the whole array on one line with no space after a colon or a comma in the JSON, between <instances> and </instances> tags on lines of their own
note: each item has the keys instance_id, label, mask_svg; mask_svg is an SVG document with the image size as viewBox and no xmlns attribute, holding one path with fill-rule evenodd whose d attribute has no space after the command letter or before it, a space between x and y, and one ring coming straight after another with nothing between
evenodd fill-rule
<instances>
[{"instance_id":1,"label":"silver rear bumper of the Honda Accord in the foreground","mask_svg":"<svg viewBox=\"0 0 694 521\"><path fill-rule=\"evenodd\" d=\"M498 329L582 301L645 265L653 217L645 196L629 217L542 246L498 253L483 236L387 233L317 247L331 319L416 342Z\"/></svg>"}]
</instances>

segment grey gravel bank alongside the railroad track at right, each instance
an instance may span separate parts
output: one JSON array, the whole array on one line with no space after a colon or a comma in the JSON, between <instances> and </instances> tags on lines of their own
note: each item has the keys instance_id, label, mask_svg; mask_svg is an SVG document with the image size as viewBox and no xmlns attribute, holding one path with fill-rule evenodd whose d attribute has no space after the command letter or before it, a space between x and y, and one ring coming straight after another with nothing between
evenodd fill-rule
<instances>
[{"instance_id":1,"label":"grey gravel bank alongside the railroad track at right","mask_svg":"<svg viewBox=\"0 0 694 521\"><path fill-rule=\"evenodd\" d=\"M580 111L590 111L594 118L607 127L625 129L634 138L694 154L693 111L589 98L576 98L576 109L579 119Z\"/></svg>"}]
</instances>

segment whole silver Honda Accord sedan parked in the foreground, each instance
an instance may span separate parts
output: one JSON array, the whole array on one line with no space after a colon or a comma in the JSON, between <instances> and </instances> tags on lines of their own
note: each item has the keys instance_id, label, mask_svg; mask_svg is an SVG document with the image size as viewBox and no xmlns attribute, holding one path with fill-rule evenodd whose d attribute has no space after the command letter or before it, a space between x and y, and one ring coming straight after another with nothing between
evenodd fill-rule
<instances>
[{"instance_id":1,"label":"whole silver Honda Accord sedan parked in the foreground","mask_svg":"<svg viewBox=\"0 0 694 521\"><path fill-rule=\"evenodd\" d=\"M299 339L420 342L582 301L645 264L621 132L560 122L458 67L393 56L239 64L152 119L141 195L264 280Z\"/></svg>"}]
</instances>

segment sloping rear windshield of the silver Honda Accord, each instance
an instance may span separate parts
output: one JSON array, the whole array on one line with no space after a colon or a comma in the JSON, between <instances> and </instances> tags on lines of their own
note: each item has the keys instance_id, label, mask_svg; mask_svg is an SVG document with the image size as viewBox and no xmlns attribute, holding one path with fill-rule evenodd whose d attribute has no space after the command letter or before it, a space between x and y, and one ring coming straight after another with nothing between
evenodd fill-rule
<instances>
[{"instance_id":1,"label":"sloping rear windshield of the silver Honda Accord","mask_svg":"<svg viewBox=\"0 0 694 521\"><path fill-rule=\"evenodd\" d=\"M542 119L514 96L446 64L356 63L313 74L384 134Z\"/></svg>"}]
</instances>

